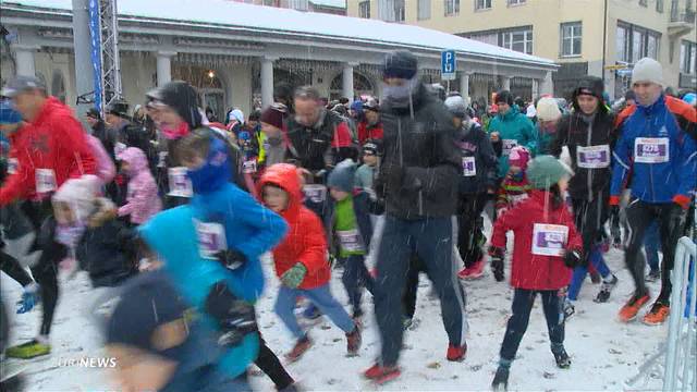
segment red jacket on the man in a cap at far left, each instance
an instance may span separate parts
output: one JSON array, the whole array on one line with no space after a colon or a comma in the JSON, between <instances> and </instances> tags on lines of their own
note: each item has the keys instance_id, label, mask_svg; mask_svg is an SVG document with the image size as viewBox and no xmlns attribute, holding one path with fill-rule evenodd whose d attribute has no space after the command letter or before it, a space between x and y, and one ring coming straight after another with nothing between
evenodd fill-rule
<instances>
[{"instance_id":1,"label":"red jacket on the man in a cap at far left","mask_svg":"<svg viewBox=\"0 0 697 392\"><path fill-rule=\"evenodd\" d=\"M0 188L0 206L15 199L44 198L36 194L36 170L52 171L56 187L83 174L97 174L97 164L80 122L70 108L49 97L32 123L11 137L17 170Z\"/></svg>"}]
</instances>

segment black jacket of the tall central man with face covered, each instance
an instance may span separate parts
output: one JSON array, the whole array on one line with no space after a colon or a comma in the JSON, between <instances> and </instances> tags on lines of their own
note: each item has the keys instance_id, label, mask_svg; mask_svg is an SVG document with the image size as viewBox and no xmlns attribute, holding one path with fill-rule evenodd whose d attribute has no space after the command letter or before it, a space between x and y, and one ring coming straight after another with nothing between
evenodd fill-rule
<instances>
[{"instance_id":1,"label":"black jacket of the tall central man with face covered","mask_svg":"<svg viewBox=\"0 0 697 392\"><path fill-rule=\"evenodd\" d=\"M383 102L384 158L376 192L384 196L391 216L409 220L451 217L462 171L452 115L424 85L408 106L395 108L389 99Z\"/></svg>"}]
</instances>

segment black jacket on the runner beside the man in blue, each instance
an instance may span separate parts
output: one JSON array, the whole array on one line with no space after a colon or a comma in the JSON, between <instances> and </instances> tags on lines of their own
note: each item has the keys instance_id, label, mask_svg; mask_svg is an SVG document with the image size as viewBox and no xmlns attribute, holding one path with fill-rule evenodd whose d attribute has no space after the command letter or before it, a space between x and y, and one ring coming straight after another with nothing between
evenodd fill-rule
<instances>
[{"instance_id":1,"label":"black jacket on the runner beside the man in blue","mask_svg":"<svg viewBox=\"0 0 697 392\"><path fill-rule=\"evenodd\" d=\"M610 192L612 176L610 164L602 169L579 168L577 147L608 145L610 154L614 148L614 118L606 111L598 111L592 124L576 111L564 115L557 125L557 136L552 140L551 154L559 158L563 146L568 146L572 169L575 175L568 182L568 194L572 198L595 200L607 197ZM611 160L611 157L608 157Z\"/></svg>"}]
</instances>

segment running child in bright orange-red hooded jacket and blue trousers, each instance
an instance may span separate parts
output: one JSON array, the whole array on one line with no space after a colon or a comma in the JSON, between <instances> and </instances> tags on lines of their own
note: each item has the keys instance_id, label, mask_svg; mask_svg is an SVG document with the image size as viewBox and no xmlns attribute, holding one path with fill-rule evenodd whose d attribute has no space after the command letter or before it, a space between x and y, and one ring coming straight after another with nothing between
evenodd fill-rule
<instances>
[{"instance_id":1,"label":"running child in bright orange-red hooded jacket and blue trousers","mask_svg":"<svg viewBox=\"0 0 697 392\"><path fill-rule=\"evenodd\" d=\"M289 225L283 242L273 249L276 273L281 280L274 311L297 342L286 355L297 360L311 342L293 313L298 297L311 301L337 327L346 332L348 355L360 348L360 330L329 291L330 266L327 238L319 217L303 205L301 175L288 163L273 164L259 180L264 204Z\"/></svg>"}]
</instances>

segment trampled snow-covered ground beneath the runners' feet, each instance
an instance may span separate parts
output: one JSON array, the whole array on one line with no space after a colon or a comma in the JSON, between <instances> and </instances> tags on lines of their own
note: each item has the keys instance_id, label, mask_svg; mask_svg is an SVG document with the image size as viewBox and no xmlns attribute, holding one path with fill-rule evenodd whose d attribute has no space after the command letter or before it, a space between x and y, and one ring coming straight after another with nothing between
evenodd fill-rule
<instances>
[{"instance_id":1,"label":"trampled snow-covered ground beneath the runners' feet","mask_svg":"<svg viewBox=\"0 0 697 392\"><path fill-rule=\"evenodd\" d=\"M638 321L623 324L616 320L621 304L632 292L633 284L623 268L622 253L610 250L609 265L620 278L612 298L607 304L595 304L592 297L599 286L587 280L576 315L566 324L566 351L572 367L558 369L549 351L549 341L541 305L538 302L530 324L513 364L510 389L523 391L617 391L624 381L637 372L638 366L656 351L667 335L667 328L648 327ZM267 291L258 305L259 326L269 346L279 355L293 345L290 333L273 314L278 280L267 267ZM332 291L343 303L346 296L341 285L340 271L332 277ZM5 304L20 298L21 289L7 275L0 278ZM448 340L440 318L437 299L428 295L428 279L421 275L416 318L418 326L406 333L402 352L403 375L383 387L368 383L360 372L369 367L378 354L379 338L372 315L372 301L365 296L364 341L360 355L345 357L345 338L341 330L325 320L311 327L315 345L297 363L289 365L289 372L307 391L481 391L488 390L498 352L510 313L512 290L497 283L490 273L482 279L465 283L469 335L467 358L463 363L445 360ZM659 283L651 284L656 295ZM52 353L45 359L27 363L29 391L107 391L115 390L108 369L61 366L66 359L102 357L97 330L84 316L83 309L94 294L87 277L81 272L74 279L61 277L61 298L52 331ZM30 339L37 330L40 313L13 315L12 340ZM641 314L639 315L641 316ZM273 391L270 380L254 373L250 381L255 390ZM660 389L658 380L649 380L641 390Z\"/></svg>"}]
</instances>

